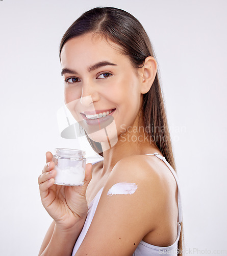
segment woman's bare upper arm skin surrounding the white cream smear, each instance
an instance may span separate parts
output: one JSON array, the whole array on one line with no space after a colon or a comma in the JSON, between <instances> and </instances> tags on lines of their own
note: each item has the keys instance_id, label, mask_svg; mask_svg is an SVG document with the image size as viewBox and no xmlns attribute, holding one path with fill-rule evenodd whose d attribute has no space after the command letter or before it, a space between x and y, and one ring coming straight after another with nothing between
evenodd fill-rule
<instances>
[{"instance_id":1,"label":"woman's bare upper arm skin surrounding the white cream smear","mask_svg":"<svg viewBox=\"0 0 227 256\"><path fill-rule=\"evenodd\" d=\"M144 236L156 229L165 186L144 159L127 157L114 166L76 256L132 255ZM109 196L109 189L122 182L135 183L135 193Z\"/></svg>"}]
</instances>

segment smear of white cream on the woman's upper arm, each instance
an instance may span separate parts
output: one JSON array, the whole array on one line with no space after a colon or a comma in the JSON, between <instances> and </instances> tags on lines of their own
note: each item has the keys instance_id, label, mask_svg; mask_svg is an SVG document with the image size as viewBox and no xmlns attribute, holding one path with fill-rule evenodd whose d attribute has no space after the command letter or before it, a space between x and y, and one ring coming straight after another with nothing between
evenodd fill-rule
<instances>
[{"instance_id":1,"label":"smear of white cream on the woman's upper arm","mask_svg":"<svg viewBox=\"0 0 227 256\"><path fill-rule=\"evenodd\" d=\"M134 194L137 189L136 183L119 182L114 184L108 191L107 196Z\"/></svg>"}]
</instances>

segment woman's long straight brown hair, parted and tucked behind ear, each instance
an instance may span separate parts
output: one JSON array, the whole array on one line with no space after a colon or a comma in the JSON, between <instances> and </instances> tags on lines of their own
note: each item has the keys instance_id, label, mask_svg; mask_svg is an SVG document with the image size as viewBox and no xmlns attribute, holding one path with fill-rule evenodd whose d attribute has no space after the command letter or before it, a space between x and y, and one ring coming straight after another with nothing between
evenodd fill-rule
<instances>
[{"instance_id":1,"label":"woman's long straight brown hair, parted and tucked behind ear","mask_svg":"<svg viewBox=\"0 0 227 256\"><path fill-rule=\"evenodd\" d=\"M122 54L130 58L132 66L135 68L142 67L146 57L155 57L150 39L141 23L130 13L114 7L97 7L85 12L75 20L62 37L59 56L66 41L89 32L104 36L107 40L119 45ZM158 73L150 90L143 94L140 114L143 117L143 126L149 127L148 131L147 129L145 131L153 139L150 143L159 148L175 170L171 138ZM100 143L91 140L86 132L85 135L94 151L103 156ZM178 249L178 254L182 254L183 226Z\"/></svg>"}]
</instances>

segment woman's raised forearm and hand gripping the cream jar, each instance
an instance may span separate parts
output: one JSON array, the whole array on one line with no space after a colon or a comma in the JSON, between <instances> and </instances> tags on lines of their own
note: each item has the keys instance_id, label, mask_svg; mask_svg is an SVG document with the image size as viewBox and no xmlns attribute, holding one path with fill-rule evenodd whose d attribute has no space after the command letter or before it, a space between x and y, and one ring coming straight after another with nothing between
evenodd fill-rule
<instances>
[{"instance_id":1,"label":"woman's raised forearm and hand gripping the cream jar","mask_svg":"<svg viewBox=\"0 0 227 256\"><path fill-rule=\"evenodd\" d=\"M91 180L90 163L85 167L83 186L71 187L54 184L53 155L46 153L46 164L38 178L40 197L48 214L54 219L42 243L39 255L71 255L86 216L86 188Z\"/></svg>"}]
</instances>

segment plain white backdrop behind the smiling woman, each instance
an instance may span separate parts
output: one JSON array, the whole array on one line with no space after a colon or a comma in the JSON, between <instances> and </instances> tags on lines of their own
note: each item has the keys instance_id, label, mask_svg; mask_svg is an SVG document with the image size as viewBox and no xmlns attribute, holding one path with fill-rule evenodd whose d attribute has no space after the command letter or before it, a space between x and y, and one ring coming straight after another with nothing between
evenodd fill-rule
<instances>
[{"instance_id":1,"label":"plain white backdrop behind the smiling woman","mask_svg":"<svg viewBox=\"0 0 227 256\"><path fill-rule=\"evenodd\" d=\"M64 103L58 48L74 20L97 6L133 14L154 45L182 188L186 254L227 250L227 2L3 0L0 254L37 255L52 221L37 182L45 152L78 146L58 130Z\"/></svg>"}]
</instances>

